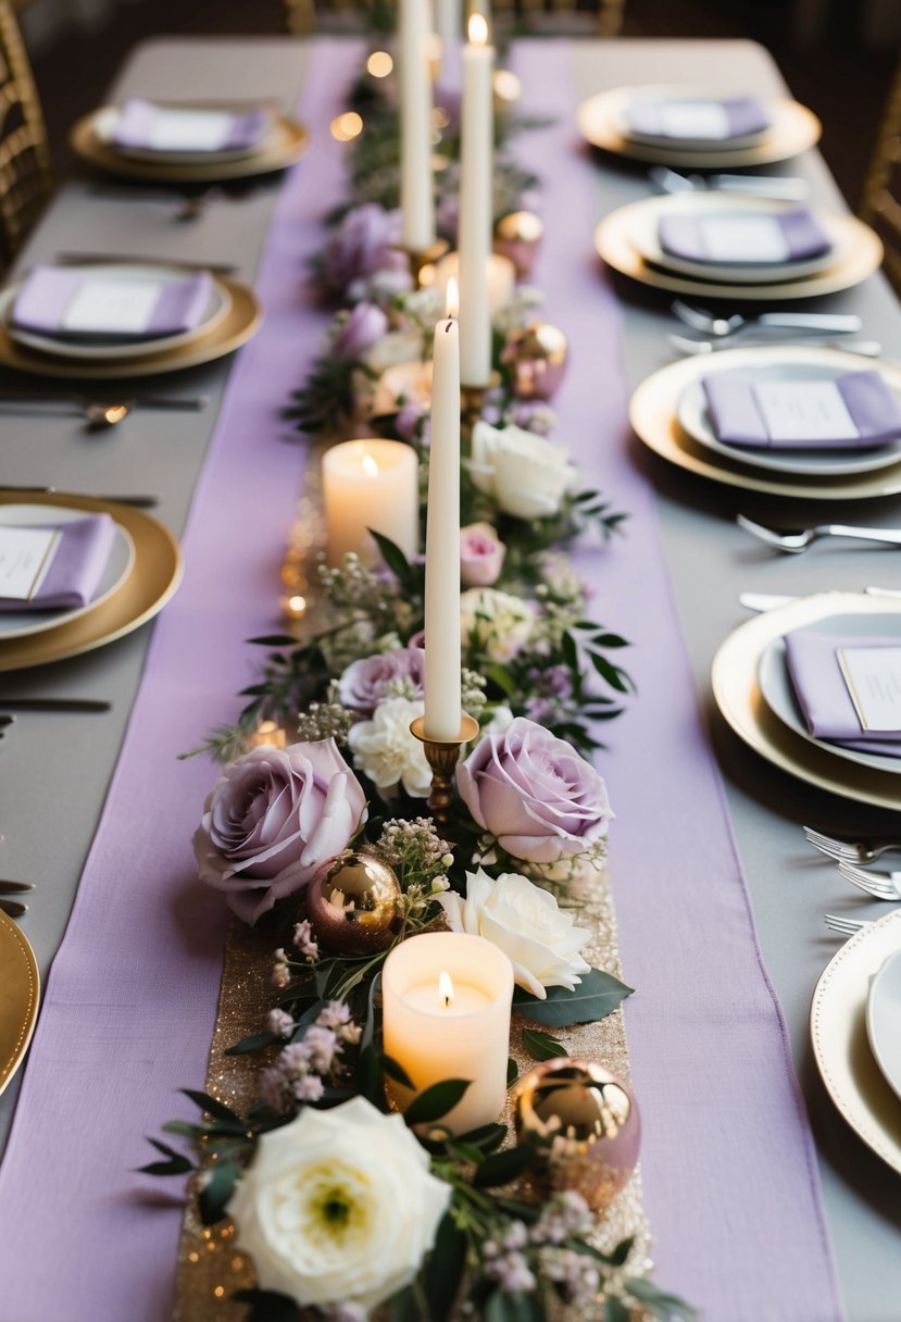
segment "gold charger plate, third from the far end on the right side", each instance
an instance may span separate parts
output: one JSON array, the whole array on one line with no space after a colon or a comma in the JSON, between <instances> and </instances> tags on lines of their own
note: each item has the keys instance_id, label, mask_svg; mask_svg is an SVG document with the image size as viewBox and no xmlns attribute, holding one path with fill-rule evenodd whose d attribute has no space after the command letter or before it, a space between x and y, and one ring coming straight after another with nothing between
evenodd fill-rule
<instances>
[{"instance_id":1,"label":"gold charger plate, third from the far end on the right side","mask_svg":"<svg viewBox=\"0 0 901 1322\"><path fill-rule=\"evenodd\" d=\"M901 460L871 472L844 473L835 477L785 477L761 468L750 468L736 456L721 459L690 436L676 418L676 408L686 386L713 371L737 368L761 368L772 362L830 366L842 371L863 371L875 366L859 354L815 345L756 345L749 349L717 349L716 353L682 358L651 373L638 386L629 403L629 420L635 435L661 459L698 473L711 481L742 490L769 492L772 496L795 496L803 500L868 500L901 492ZM901 391L901 368L880 362L886 383Z\"/></svg>"}]
</instances>

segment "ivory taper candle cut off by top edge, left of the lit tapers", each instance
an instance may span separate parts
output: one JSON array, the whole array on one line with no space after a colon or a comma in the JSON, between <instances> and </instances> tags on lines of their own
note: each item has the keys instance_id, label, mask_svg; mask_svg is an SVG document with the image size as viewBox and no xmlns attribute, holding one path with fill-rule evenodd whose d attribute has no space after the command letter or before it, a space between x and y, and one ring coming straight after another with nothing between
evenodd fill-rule
<instances>
[{"instance_id":1,"label":"ivory taper candle cut off by top edge, left of the lit tapers","mask_svg":"<svg viewBox=\"0 0 901 1322\"><path fill-rule=\"evenodd\" d=\"M399 0L400 242L412 253L435 243L431 26L428 0Z\"/></svg>"}]
</instances>

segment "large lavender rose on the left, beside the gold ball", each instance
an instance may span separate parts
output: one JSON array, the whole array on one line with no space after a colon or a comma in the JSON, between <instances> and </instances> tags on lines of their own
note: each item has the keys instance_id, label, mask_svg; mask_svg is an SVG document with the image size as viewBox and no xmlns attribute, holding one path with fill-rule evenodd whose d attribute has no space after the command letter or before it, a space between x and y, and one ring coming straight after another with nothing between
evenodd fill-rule
<instances>
[{"instance_id":1,"label":"large lavender rose on the left, beside the gold ball","mask_svg":"<svg viewBox=\"0 0 901 1322\"><path fill-rule=\"evenodd\" d=\"M203 805L193 841L199 879L255 923L340 854L365 813L363 791L333 739L254 748Z\"/></svg>"}]
</instances>

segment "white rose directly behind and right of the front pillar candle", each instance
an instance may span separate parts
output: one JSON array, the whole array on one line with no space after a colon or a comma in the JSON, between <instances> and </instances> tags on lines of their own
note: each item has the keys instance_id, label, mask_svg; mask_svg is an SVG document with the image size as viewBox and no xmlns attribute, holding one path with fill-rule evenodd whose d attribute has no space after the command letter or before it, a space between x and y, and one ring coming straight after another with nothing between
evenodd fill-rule
<instances>
[{"instance_id":1,"label":"white rose directly behind and right of the front pillar candle","mask_svg":"<svg viewBox=\"0 0 901 1322\"><path fill-rule=\"evenodd\" d=\"M546 988L569 988L591 972L579 953L591 932L576 927L572 914L540 886L518 873L502 873L497 880L480 867L466 873L466 899L439 896L453 932L484 936L499 947L513 964L521 988L546 999Z\"/></svg>"}]
</instances>

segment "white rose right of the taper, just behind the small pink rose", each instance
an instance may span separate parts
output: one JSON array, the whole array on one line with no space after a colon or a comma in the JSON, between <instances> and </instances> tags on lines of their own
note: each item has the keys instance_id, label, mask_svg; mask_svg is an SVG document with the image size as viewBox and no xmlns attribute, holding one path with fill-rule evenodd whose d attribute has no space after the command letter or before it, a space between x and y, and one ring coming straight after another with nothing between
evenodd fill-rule
<instances>
[{"instance_id":1,"label":"white rose right of the taper, just behind the small pink rose","mask_svg":"<svg viewBox=\"0 0 901 1322\"><path fill-rule=\"evenodd\" d=\"M567 451L522 427L473 427L469 472L473 485L517 518L556 514L577 469Z\"/></svg>"}]
</instances>

